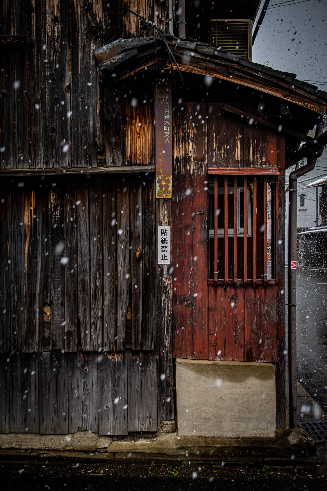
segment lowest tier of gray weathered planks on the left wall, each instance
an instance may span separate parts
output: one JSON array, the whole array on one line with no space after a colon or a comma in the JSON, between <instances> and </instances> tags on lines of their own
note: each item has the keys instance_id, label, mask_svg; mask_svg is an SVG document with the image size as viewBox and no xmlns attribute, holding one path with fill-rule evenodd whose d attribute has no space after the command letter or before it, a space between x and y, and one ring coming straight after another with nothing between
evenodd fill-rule
<instances>
[{"instance_id":1,"label":"lowest tier of gray weathered planks on the left wall","mask_svg":"<svg viewBox=\"0 0 327 491\"><path fill-rule=\"evenodd\" d=\"M158 431L154 352L0 355L0 433Z\"/></svg>"}]
</instances>

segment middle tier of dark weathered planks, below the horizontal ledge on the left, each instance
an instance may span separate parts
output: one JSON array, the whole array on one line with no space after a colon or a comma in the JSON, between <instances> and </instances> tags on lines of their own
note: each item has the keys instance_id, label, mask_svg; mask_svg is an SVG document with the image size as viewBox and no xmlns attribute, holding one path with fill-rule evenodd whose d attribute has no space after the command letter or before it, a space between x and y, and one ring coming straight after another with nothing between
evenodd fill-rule
<instances>
[{"instance_id":1,"label":"middle tier of dark weathered planks, below the horizontal ledge on the left","mask_svg":"<svg viewBox=\"0 0 327 491\"><path fill-rule=\"evenodd\" d=\"M155 349L153 196L149 175L5 180L2 353Z\"/></svg>"}]
</instances>

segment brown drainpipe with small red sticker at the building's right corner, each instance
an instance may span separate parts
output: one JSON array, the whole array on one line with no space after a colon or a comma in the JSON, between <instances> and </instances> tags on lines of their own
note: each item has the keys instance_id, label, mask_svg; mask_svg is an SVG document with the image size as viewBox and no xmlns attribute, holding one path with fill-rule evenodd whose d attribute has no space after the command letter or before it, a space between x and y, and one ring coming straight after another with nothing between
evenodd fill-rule
<instances>
[{"instance_id":1,"label":"brown drainpipe with small red sticker at the building's right corner","mask_svg":"<svg viewBox=\"0 0 327 491\"><path fill-rule=\"evenodd\" d=\"M317 124L315 138L324 129L323 124ZM298 178L314 169L318 157L323 153L324 146L305 144L301 154L307 164L291 172L289 176L289 225L288 225L288 380L290 404L290 428L298 427L298 398L297 398L297 270L291 268L291 262L297 260L297 208L298 208Z\"/></svg>"}]
</instances>

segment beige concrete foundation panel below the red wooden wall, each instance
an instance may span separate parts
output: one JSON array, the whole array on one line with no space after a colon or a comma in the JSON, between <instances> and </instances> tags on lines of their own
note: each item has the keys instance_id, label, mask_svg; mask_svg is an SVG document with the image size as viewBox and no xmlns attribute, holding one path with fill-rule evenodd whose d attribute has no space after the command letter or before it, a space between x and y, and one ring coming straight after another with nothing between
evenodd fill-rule
<instances>
[{"instance_id":1,"label":"beige concrete foundation panel below the red wooden wall","mask_svg":"<svg viewBox=\"0 0 327 491\"><path fill-rule=\"evenodd\" d=\"M178 434L274 436L271 363L176 360Z\"/></svg>"}]
</instances>

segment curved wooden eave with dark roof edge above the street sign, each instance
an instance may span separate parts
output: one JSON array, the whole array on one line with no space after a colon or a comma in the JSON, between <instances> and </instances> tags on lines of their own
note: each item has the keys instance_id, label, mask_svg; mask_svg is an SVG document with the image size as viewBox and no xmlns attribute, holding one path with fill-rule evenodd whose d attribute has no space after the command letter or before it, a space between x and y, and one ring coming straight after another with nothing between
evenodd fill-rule
<instances>
[{"instance_id":1,"label":"curved wooden eave with dark roof edge above the street sign","mask_svg":"<svg viewBox=\"0 0 327 491\"><path fill-rule=\"evenodd\" d=\"M294 74L252 63L247 58L231 55L204 43L170 39L168 44L182 73L210 76L243 85L320 115L327 111L327 93L297 80ZM117 40L107 45L107 51L113 47L120 53L106 60L103 55L100 56L100 51L103 53L106 47L95 51L104 81L118 82L149 71L171 70L166 47L160 38ZM175 63L173 70L176 75Z\"/></svg>"}]
</instances>

